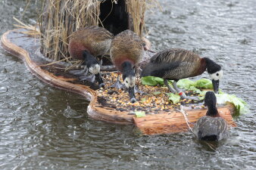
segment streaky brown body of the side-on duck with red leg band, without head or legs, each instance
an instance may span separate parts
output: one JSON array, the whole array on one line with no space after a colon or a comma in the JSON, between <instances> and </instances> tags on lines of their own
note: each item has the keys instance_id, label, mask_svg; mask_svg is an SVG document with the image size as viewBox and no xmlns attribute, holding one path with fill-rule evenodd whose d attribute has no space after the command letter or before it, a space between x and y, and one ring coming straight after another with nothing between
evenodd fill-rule
<instances>
[{"instance_id":1,"label":"streaky brown body of the side-on duck with red leg band, without head or legs","mask_svg":"<svg viewBox=\"0 0 256 170\"><path fill-rule=\"evenodd\" d=\"M142 76L158 76L163 79L179 80L198 76L206 70L204 58L192 51L180 48L161 51L151 57Z\"/></svg>"}]
</instances>

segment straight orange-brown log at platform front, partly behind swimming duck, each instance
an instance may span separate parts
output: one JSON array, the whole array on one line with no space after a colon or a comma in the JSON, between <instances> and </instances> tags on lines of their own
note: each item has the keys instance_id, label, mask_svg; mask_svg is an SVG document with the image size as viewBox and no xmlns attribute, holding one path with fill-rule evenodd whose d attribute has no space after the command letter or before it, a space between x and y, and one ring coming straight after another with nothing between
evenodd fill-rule
<instances>
[{"instance_id":1,"label":"straight orange-brown log at platform front, partly behind swimming duck","mask_svg":"<svg viewBox=\"0 0 256 170\"><path fill-rule=\"evenodd\" d=\"M230 126L236 126L236 123L233 122L233 118L231 116L231 113L234 111L233 105L228 104L225 107L219 107L218 110L220 116L222 116L223 119L226 119L226 122L228 122ZM206 109L186 110L191 128L194 126L198 118L205 115L206 111ZM148 115L142 118L134 117L133 119L135 125L139 127L143 134L168 134L189 131L189 127L186 125L183 113L177 111Z\"/></svg>"}]
</instances>

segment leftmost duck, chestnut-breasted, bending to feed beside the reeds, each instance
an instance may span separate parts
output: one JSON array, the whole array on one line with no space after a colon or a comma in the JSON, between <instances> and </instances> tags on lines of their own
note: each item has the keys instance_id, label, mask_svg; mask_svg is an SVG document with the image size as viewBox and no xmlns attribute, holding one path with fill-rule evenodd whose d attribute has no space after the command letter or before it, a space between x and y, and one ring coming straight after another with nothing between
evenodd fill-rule
<instances>
[{"instance_id":1,"label":"leftmost duck, chestnut-breasted, bending to feed beside the reeds","mask_svg":"<svg viewBox=\"0 0 256 170\"><path fill-rule=\"evenodd\" d=\"M104 81L101 77L99 62L96 57L102 57L107 54L114 35L107 29L100 26L86 26L83 29L77 29L70 35L68 51L71 57L77 60L83 60L86 75L88 70L92 76L86 76L81 80L89 82L98 82L99 87L103 87Z\"/></svg>"}]
</instances>

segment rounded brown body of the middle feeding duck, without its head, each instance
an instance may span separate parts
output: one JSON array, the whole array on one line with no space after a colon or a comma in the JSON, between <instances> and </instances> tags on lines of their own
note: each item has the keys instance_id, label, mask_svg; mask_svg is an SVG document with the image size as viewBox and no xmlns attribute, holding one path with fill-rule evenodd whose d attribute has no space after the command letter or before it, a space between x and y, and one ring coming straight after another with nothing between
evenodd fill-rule
<instances>
[{"instance_id":1,"label":"rounded brown body of the middle feeding duck, without its head","mask_svg":"<svg viewBox=\"0 0 256 170\"><path fill-rule=\"evenodd\" d=\"M144 42L133 31L127 29L117 34L111 42L111 60L117 69L122 71L124 61L129 61L135 66L142 60Z\"/></svg>"}]
</instances>

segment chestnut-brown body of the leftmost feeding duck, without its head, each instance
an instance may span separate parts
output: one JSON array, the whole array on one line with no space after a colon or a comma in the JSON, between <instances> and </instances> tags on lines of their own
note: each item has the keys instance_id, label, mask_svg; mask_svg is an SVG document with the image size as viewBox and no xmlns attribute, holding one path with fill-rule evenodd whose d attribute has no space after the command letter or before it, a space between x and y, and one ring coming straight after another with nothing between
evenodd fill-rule
<instances>
[{"instance_id":1,"label":"chestnut-brown body of the leftmost feeding duck, without its head","mask_svg":"<svg viewBox=\"0 0 256 170\"><path fill-rule=\"evenodd\" d=\"M78 60L83 60L85 50L94 57L98 57L108 52L112 39L114 36L107 29L99 26L86 26L71 34L68 51L71 57Z\"/></svg>"}]
</instances>

